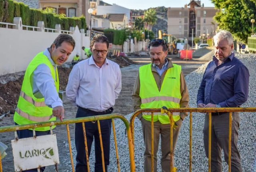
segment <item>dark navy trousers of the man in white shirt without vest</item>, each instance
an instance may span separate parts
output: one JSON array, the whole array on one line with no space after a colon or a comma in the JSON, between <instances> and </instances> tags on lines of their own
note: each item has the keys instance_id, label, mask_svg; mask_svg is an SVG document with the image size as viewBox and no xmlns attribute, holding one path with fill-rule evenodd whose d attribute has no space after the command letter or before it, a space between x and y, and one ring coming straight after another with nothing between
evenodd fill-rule
<instances>
[{"instance_id":1,"label":"dark navy trousers of the man in white shirt without vest","mask_svg":"<svg viewBox=\"0 0 256 172\"><path fill-rule=\"evenodd\" d=\"M76 118L111 114L112 112L113 112L113 108L105 110L104 112L94 112L92 110L78 107ZM111 119L100 120L100 130L101 130L101 136L102 136L106 172L108 172L108 165L109 165L111 124L112 124ZM94 171L103 172L102 156L101 156L101 148L100 148L100 137L98 132L97 121L85 122L85 128L86 128L85 131L86 131L86 140L87 140L87 146L88 146L87 147L88 156L90 156L93 139L95 139L94 140L94 147L95 147ZM85 145L84 145L84 132L83 132L82 123L76 123L75 144L76 144L76 151L77 151L76 172L87 172L86 151L85 151Z\"/></svg>"}]
</instances>

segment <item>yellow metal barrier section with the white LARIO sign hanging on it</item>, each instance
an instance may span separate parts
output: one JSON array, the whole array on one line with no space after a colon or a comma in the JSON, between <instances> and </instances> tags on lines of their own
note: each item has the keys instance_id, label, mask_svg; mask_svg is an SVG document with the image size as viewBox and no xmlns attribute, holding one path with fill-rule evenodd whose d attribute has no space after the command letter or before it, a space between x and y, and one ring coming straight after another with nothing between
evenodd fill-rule
<instances>
[{"instance_id":1,"label":"yellow metal barrier section with the white LARIO sign hanging on it","mask_svg":"<svg viewBox=\"0 0 256 172\"><path fill-rule=\"evenodd\" d=\"M40 122L40 123L26 124L26 125L6 126L6 127L0 127L0 133L1 132L12 132L12 131L14 131L15 136L17 136L17 130L34 129L34 128L38 128L38 127L55 126L55 125L56 126L57 125L66 125L66 130L67 130L67 134L68 134L68 146L69 146L69 152L70 152L70 160L71 160L71 165L72 165L72 172L74 172L75 168L74 168L71 141L70 141L69 124L82 122L84 138L85 138L84 143L85 143L85 150L86 150L87 167L88 167L88 172L90 172L90 165L89 165L89 158L88 158L88 148L87 148L86 132L85 132L84 122L97 121L99 136L100 136L100 147L101 147L101 150L102 150L102 167L103 167L103 171L105 172L105 169L104 169L104 167L105 167L104 166L104 155L103 155L103 143L102 143L101 130L100 130L100 120L112 119L114 142L115 142L115 148L116 148L116 162L117 162L117 166L118 166L118 172L120 172L120 162L119 162L119 156L118 156L118 145L117 145L117 141L116 141L116 130L115 130L114 118L120 118L126 126L127 138L128 138L128 147L129 147L129 154L130 154L130 171L135 172L134 149L133 149L134 146L132 145L132 135L131 135L130 125L129 125L128 120L124 116L122 116L121 114L106 114L106 115L98 115L98 116L89 116L89 117L84 117L84 118L74 118L74 119L69 119L69 120L63 120L63 122L60 122L60 121ZM51 130L51 133L52 133L52 130ZM57 166L56 166L56 169L57 169ZM0 154L0 172L3 172L2 162L1 162L1 154Z\"/></svg>"}]
</instances>

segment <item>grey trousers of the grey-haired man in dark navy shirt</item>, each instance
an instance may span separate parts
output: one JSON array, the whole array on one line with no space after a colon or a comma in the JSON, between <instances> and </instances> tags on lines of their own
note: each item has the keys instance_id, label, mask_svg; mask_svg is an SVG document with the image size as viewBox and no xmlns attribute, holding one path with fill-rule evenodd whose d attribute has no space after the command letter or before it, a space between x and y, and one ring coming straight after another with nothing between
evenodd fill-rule
<instances>
[{"instance_id":1,"label":"grey trousers of the grey-haired man in dark navy shirt","mask_svg":"<svg viewBox=\"0 0 256 172\"><path fill-rule=\"evenodd\" d=\"M238 129L240 116L238 113L232 114L232 136L231 136L231 171L242 172L241 158L237 148ZM212 115L212 148L211 148L211 171L222 172L221 151L224 151L224 159L228 163L228 131L229 113L222 115ZM209 140L209 116L204 118L204 149L208 156Z\"/></svg>"}]
</instances>

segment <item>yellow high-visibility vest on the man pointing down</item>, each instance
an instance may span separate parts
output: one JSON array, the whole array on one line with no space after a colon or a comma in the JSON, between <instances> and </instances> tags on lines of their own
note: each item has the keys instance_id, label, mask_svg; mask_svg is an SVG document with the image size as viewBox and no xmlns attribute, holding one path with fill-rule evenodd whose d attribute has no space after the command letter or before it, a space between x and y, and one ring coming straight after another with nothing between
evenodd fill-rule
<instances>
[{"instance_id":1,"label":"yellow high-visibility vest on the man pointing down","mask_svg":"<svg viewBox=\"0 0 256 172\"><path fill-rule=\"evenodd\" d=\"M40 52L36 55L36 57L30 62L28 68L25 72L22 88L20 91L20 98L18 100L18 105L16 108L16 112L14 114L14 122L17 124L32 124L36 122L46 122L46 121L55 121L56 117L52 115L52 108L49 108L44 103L44 98L36 98L33 94L33 78L32 74L34 70L40 64L46 64L52 74L52 78L54 79L56 91L59 91L59 78L58 78L58 70L56 68L56 72L50 60ZM55 126L52 126L55 128ZM50 127L40 127L36 128L36 131L47 131L50 130Z\"/></svg>"}]
</instances>

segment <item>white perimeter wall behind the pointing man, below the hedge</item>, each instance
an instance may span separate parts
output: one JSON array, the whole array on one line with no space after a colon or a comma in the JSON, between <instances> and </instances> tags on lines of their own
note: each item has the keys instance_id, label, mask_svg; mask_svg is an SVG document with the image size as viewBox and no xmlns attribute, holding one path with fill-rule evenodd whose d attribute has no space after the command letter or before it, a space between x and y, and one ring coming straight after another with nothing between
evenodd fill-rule
<instances>
[{"instance_id":1,"label":"white perimeter wall behind the pointing man, below the hedge","mask_svg":"<svg viewBox=\"0 0 256 172\"><path fill-rule=\"evenodd\" d=\"M0 28L0 76L26 70L34 56L50 47L59 34ZM70 35L76 41L76 47L68 62L72 61L78 52L85 58L82 46L90 46L89 37L80 33L77 26L74 34Z\"/></svg>"}]
</instances>

